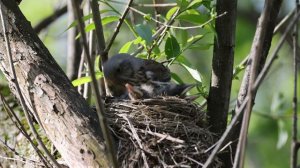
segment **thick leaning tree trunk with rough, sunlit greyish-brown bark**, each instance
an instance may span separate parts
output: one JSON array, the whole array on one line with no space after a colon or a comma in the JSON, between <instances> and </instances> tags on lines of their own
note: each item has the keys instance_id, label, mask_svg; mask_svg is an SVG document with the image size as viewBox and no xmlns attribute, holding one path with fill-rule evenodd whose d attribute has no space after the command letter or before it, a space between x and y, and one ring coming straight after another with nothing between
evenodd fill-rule
<instances>
[{"instance_id":1,"label":"thick leaning tree trunk with rough, sunlit greyish-brown bark","mask_svg":"<svg viewBox=\"0 0 300 168\"><path fill-rule=\"evenodd\" d=\"M95 113L74 89L15 1L0 3L27 107L36 112L33 113L42 122L48 138L70 167L108 167ZM0 69L16 94L3 33L1 28Z\"/></svg>"}]
</instances>

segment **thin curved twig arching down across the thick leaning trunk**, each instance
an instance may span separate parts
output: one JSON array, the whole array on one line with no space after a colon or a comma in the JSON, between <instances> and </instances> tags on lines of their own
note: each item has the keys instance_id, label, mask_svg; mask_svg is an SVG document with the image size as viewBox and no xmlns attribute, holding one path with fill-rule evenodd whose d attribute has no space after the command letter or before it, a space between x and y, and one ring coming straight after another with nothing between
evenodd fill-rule
<instances>
[{"instance_id":1,"label":"thin curved twig arching down across the thick leaning trunk","mask_svg":"<svg viewBox=\"0 0 300 168\"><path fill-rule=\"evenodd\" d=\"M49 150L46 148L46 146L44 145L44 143L42 142L40 136L38 135L37 131L34 128L32 119L30 118L30 114L29 111L26 107L25 104L25 100L23 97L23 94L21 92L21 88L19 86L18 83L18 79L17 79L17 75L16 75L16 71L13 65L13 61L12 61L12 53L11 53L11 48L10 48L10 43L9 43L9 37L8 37L8 32L6 30L6 24L5 24L5 19L3 17L3 11L2 11L2 3L0 3L0 17L1 17L1 21L2 21L2 26L3 26L3 35L4 35L4 39L5 39L5 45L6 45L6 49L7 49L7 55L8 55L8 61L9 61L9 65L10 65L10 70L11 73L13 75L13 79L14 79L14 84L15 84L15 88L17 91L17 97L19 97L21 106L24 110L25 113L25 117L27 119L28 125L30 127L31 132L33 133L37 143L39 144L39 146L41 146L43 152L46 154L46 156L50 159L50 161L56 166L56 167L60 167L59 163L54 159L54 157L50 154Z\"/></svg>"}]
</instances>

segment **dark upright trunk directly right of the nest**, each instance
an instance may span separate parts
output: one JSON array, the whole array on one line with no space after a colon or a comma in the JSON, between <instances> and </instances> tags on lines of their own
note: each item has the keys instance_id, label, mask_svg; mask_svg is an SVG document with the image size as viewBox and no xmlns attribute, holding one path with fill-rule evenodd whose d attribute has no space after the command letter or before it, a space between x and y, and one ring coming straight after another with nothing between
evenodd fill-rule
<instances>
[{"instance_id":1,"label":"dark upright trunk directly right of the nest","mask_svg":"<svg viewBox=\"0 0 300 168\"><path fill-rule=\"evenodd\" d=\"M221 135L227 125L230 101L237 0L218 0L217 13L227 14L216 20L217 37L214 43L211 84L207 115L211 131Z\"/></svg>"}]
</instances>

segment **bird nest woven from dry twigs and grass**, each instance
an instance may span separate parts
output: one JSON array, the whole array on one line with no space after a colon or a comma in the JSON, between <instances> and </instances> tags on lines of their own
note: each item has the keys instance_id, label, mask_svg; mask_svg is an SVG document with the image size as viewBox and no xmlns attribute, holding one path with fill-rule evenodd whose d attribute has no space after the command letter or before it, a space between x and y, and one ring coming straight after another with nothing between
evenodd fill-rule
<instances>
[{"instance_id":1,"label":"bird nest woven from dry twigs and grass","mask_svg":"<svg viewBox=\"0 0 300 168\"><path fill-rule=\"evenodd\" d=\"M200 107L177 97L106 100L120 167L202 167L214 144ZM222 163L215 159L213 167Z\"/></svg>"}]
</instances>

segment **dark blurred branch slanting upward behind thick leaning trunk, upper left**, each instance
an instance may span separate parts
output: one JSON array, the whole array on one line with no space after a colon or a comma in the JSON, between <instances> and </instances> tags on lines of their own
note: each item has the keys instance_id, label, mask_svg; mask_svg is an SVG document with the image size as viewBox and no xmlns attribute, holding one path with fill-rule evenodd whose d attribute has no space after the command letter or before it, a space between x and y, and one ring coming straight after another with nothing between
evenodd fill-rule
<instances>
[{"instance_id":1,"label":"dark blurred branch slanting upward behind thick leaning trunk, upper left","mask_svg":"<svg viewBox=\"0 0 300 168\"><path fill-rule=\"evenodd\" d=\"M63 6L62 8L54 11L54 13L48 17L46 17L44 20L39 22L33 29L34 31L38 34L40 33L43 29L48 27L51 23L53 23L57 18L61 17L67 13L67 5Z\"/></svg>"}]
</instances>

